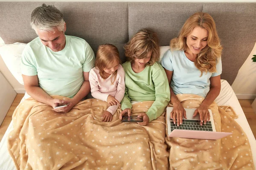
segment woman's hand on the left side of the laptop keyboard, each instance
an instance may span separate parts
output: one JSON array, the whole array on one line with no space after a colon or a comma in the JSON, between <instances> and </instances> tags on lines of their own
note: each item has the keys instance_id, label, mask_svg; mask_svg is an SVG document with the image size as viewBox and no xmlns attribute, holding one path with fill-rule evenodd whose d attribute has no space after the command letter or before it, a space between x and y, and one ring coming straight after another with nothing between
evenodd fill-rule
<instances>
[{"instance_id":1,"label":"woman's hand on the left side of the laptop keyboard","mask_svg":"<svg viewBox=\"0 0 256 170\"><path fill-rule=\"evenodd\" d=\"M174 103L173 104L173 110L171 112L171 118L173 119L174 124L176 123L176 118L177 118L177 126L182 124L182 119L186 119L186 111L182 107L180 102Z\"/></svg>"}]
</instances>

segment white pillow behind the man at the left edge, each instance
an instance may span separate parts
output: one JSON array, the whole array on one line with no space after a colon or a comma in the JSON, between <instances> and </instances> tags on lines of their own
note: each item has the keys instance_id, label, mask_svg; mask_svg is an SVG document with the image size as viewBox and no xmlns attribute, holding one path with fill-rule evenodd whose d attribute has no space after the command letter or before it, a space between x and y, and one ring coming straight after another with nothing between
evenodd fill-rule
<instances>
[{"instance_id":1,"label":"white pillow behind the man at the left edge","mask_svg":"<svg viewBox=\"0 0 256 170\"><path fill-rule=\"evenodd\" d=\"M22 85L24 83L21 75L21 54L25 46L26 44L19 42L0 46L0 56L15 79Z\"/></svg>"}]
</instances>

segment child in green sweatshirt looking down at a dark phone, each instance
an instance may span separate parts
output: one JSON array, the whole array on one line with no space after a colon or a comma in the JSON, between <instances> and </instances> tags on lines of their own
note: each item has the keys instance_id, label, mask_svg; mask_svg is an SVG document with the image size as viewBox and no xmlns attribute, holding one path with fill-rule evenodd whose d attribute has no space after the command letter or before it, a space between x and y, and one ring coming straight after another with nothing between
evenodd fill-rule
<instances>
[{"instance_id":1,"label":"child in green sweatshirt looking down at a dark phone","mask_svg":"<svg viewBox=\"0 0 256 170\"><path fill-rule=\"evenodd\" d=\"M163 67L157 62L160 49L157 34L148 29L137 32L125 45L125 56L128 61L125 69L125 96L122 100L122 112L119 119L128 113L131 115L131 102L154 101L146 113L140 113L143 122L148 125L157 119L170 101L168 80Z\"/></svg>"}]
</instances>

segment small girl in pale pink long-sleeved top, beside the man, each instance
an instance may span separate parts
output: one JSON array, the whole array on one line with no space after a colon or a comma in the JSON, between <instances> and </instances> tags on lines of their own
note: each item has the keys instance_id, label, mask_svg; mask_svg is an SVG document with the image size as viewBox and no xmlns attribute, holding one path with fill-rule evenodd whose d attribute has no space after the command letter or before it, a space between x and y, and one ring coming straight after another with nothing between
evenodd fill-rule
<instances>
[{"instance_id":1,"label":"small girl in pale pink long-sleeved top, beside the man","mask_svg":"<svg viewBox=\"0 0 256 170\"><path fill-rule=\"evenodd\" d=\"M103 44L97 51L95 67L89 73L92 96L110 105L102 115L103 122L112 121L125 94L125 71L120 63L117 48L112 44Z\"/></svg>"}]
</instances>

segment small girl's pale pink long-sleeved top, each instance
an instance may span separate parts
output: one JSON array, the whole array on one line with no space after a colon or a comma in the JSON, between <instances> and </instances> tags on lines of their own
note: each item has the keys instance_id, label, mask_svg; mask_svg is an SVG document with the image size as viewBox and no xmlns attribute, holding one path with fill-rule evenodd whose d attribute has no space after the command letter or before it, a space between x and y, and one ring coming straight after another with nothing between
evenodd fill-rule
<instances>
[{"instance_id":1,"label":"small girl's pale pink long-sleeved top","mask_svg":"<svg viewBox=\"0 0 256 170\"><path fill-rule=\"evenodd\" d=\"M114 96L119 102L122 101L125 94L125 71L119 64L115 81L111 82L112 76L102 79L99 70L94 67L89 73L89 82L91 94L94 98L107 102L108 95ZM107 111L112 115L116 112L119 105L110 106Z\"/></svg>"}]
</instances>

